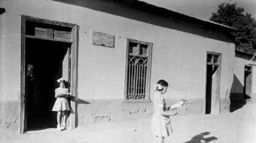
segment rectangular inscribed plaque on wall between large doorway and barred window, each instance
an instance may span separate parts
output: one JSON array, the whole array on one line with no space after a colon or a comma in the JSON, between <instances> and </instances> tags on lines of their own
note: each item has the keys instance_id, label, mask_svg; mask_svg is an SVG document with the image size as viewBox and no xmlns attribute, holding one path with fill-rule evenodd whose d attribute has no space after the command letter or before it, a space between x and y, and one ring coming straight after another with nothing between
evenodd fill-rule
<instances>
[{"instance_id":1,"label":"rectangular inscribed plaque on wall between large doorway and barred window","mask_svg":"<svg viewBox=\"0 0 256 143\"><path fill-rule=\"evenodd\" d=\"M106 47L114 47L114 35L93 31L92 44Z\"/></svg>"}]
</instances>

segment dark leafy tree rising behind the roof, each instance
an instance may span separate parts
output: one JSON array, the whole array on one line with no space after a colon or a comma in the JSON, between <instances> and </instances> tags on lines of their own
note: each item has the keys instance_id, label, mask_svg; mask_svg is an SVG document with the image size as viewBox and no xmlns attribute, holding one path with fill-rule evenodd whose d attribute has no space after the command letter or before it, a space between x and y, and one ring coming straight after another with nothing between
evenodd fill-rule
<instances>
[{"instance_id":1,"label":"dark leafy tree rising behind the roof","mask_svg":"<svg viewBox=\"0 0 256 143\"><path fill-rule=\"evenodd\" d=\"M236 37L236 49L255 53L253 47L256 45L256 20L251 18L251 14L243 14L243 11L236 3L222 3L218 6L218 11L213 12L210 20L236 28L237 31L232 32Z\"/></svg>"}]
</instances>

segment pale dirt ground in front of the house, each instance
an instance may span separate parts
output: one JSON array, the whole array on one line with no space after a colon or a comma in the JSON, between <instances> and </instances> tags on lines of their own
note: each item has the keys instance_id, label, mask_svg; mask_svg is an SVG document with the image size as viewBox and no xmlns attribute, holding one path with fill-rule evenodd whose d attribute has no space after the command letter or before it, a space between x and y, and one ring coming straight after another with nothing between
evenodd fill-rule
<instances>
[{"instance_id":1,"label":"pale dirt ground in front of the house","mask_svg":"<svg viewBox=\"0 0 256 143\"><path fill-rule=\"evenodd\" d=\"M173 116L174 133L166 142L256 142L256 104L250 103L232 113L222 115ZM154 142L151 119L100 123L65 131L49 128L29 131L24 135L2 132L0 142Z\"/></svg>"}]
</instances>

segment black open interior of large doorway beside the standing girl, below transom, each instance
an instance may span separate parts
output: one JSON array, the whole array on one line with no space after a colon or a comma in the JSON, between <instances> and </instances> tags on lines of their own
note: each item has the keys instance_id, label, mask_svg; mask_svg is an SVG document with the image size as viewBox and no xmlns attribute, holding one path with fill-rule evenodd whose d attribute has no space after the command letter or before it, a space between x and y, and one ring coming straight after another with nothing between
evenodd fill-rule
<instances>
[{"instance_id":1,"label":"black open interior of large doorway beside the standing girl, below transom","mask_svg":"<svg viewBox=\"0 0 256 143\"><path fill-rule=\"evenodd\" d=\"M56 80L69 78L69 48L65 42L26 40L27 130L56 126Z\"/></svg>"}]
</instances>

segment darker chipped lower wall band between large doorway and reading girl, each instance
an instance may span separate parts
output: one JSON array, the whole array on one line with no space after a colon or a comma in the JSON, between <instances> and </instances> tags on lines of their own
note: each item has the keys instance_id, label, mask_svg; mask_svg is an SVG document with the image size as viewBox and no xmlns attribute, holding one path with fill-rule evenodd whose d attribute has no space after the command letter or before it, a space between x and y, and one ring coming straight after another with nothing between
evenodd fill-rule
<instances>
[{"instance_id":1,"label":"darker chipped lower wall band between large doorway and reading girl","mask_svg":"<svg viewBox=\"0 0 256 143\"><path fill-rule=\"evenodd\" d=\"M121 103L120 99L97 99L78 102L78 125L148 118L154 110L151 103ZM83 105L84 104L84 105Z\"/></svg>"}]
</instances>

